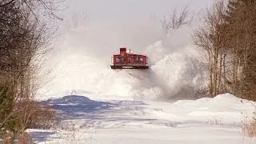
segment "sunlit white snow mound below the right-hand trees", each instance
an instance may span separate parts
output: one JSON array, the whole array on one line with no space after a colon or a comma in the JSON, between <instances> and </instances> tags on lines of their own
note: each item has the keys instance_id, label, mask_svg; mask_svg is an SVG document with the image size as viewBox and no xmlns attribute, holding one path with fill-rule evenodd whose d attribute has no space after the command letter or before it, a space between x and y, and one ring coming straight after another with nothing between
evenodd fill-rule
<instances>
[{"instance_id":1,"label":"sunlit white snow mound below the right-hand trees","mask_svg":"<svg viewBox=\"0 0 256 144\"><path fill-rule=\"evenodd\" d=\"M232 94L219 94L214 98L180 100L173 103L176 109L183 110L187 119L217 124L240 125L254 116L256 102L237 98Z\"/></svg>"}]
</instances>

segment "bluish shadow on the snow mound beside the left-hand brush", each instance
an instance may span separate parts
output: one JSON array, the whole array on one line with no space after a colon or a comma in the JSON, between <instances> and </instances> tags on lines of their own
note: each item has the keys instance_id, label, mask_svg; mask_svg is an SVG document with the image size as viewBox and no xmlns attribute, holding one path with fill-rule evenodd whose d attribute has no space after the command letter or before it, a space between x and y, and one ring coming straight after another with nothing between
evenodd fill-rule
<instances>
[{"instance_id":1,"label":"bluish shadow on the snow mound beside the left-hand brush","mask_svg":"<svg viewBox=\"0 0 256 144\"><path fill-rule=\"evenodd\" d=\"M109 114L143 109L146 105L142 101L111 101L100 102L80 95L68 95L58 99L49 99L42 102L52 106L62 115L62 120L70 119L106 119ZM114 118L120 120L124 118Z\"/></svg>"}]
</instances>

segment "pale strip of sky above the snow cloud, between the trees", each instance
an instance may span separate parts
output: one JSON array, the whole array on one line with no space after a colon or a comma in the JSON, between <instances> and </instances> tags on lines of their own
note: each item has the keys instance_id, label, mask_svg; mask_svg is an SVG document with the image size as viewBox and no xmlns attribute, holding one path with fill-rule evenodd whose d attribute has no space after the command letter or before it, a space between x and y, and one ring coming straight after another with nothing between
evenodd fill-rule
<instances>
[{"instance_id":1,"label":"pale strip of sky above the snow cloud, between the trees","mask_svg":"<svg viewBox=\"0 0 256 144\"><path fill-rule=\"evenodd\" d=\"M67 0L72 12L89 12L90 19L139 18L150 14L165 14L189 4L192 10L202 10L214 0Z\"/></svg>"}]
</instances>

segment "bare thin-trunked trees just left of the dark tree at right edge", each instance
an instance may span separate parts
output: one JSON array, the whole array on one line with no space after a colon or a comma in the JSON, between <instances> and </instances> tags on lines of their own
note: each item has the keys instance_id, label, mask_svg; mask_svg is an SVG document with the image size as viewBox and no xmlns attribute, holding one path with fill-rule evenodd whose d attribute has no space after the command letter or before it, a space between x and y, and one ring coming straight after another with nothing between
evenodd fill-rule
<instances>
[{"instance_id":1,"label":"bare thin-trunked trees just left of the dark tree at right edge","mask_svg":"<svg viewBox=\"0 0 256 144\"><path fill-rule=\"evenodd\" d=\"M209 92L215 96L222 91L222 75L225 74L226 51L223 48L225 27L220 25L223 20L225 6L223 2L216 2L212 9L206 9L202 26L194 31L193 38L196 45L206 51L209 70ZM225 90L225 89L224 89Z\"/></svg>"}]
</instances>

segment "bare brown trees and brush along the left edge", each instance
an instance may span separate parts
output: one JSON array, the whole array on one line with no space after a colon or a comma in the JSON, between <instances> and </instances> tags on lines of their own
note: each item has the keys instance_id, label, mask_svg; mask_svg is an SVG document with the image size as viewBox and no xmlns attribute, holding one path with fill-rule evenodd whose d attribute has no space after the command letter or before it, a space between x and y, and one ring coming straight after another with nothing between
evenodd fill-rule
<instances>
[{"instance_id":1,"label":"bare brown trees and brush along the left edge","mask_svg":"<svg viewBox=\"0 0 256 144\"><path fill-rule=\"evenodd\" d=\"M27 128L51 126L55 113L34 102L42 58L54 34L56 0L0 0L0 139L28 143Z\"/></svg>"}]
</instances>

